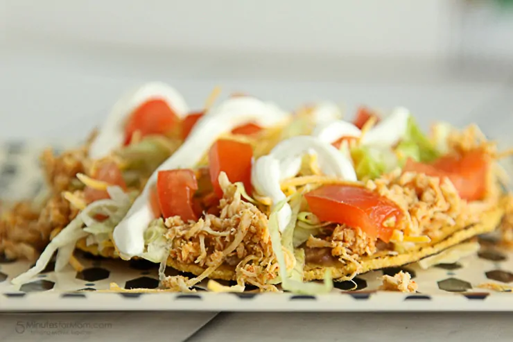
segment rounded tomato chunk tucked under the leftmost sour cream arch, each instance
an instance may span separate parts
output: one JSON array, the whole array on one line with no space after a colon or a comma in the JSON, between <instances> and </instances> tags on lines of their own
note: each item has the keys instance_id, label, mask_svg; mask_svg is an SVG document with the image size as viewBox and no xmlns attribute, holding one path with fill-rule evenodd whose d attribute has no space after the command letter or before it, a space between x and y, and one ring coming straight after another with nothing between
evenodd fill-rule
<instances>
[{"instance_id":1,"label":"rounded tomato chunk tucked under the leftmost sour cream arch","mask_svg":"<svg viewBox=\"0 0 513 342\"><path fill-rule=\"evenodd\" d=\"M162 99L146 101L128 119L125 126L125 144L129 144L134 132L141 136L164 135L171 132L178 123L175 111Z\"/></svg>"}]
</instances>

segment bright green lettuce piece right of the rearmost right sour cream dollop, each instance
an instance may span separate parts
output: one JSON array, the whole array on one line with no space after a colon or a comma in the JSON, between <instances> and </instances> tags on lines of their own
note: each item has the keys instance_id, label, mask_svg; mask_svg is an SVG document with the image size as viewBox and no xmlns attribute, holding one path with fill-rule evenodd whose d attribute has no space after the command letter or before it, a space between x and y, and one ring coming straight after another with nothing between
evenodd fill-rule
<instances>
[{"instance_id":1,"label":"bright green lettuce piece right of the rearmost right sour cream dollop","mask_svg":"<svg viewBox=\"0 0 513 342\"><path fill-rule=\"evenodd\" d=\"M395 151L400 156L400 166L403 166L408 157L417 162L432 162L437 157L440 157L440 152L437 151L431 140L422 132L413 117L408 119L406 134L395 148Z\"/></svg>"}]
</instances>

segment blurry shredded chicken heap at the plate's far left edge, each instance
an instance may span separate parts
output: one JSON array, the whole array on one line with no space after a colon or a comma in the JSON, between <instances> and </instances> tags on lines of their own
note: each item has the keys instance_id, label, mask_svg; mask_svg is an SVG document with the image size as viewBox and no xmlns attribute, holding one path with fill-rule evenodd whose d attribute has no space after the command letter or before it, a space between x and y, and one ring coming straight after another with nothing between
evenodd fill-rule
<instances>
[{"instance_id":1,"label":"blurry shredded chicken heap at the plate's far left edge","mask_svg":"<svg viewBox=\"0 0 513 342\"><path fill-rule=\"evenodd\" d=\"M28 202L17 203L0 220L0 253L9 259L37 259L55 232L77 214L60 194L52 196L40 212Z\"/></svg>"}]
</instances>

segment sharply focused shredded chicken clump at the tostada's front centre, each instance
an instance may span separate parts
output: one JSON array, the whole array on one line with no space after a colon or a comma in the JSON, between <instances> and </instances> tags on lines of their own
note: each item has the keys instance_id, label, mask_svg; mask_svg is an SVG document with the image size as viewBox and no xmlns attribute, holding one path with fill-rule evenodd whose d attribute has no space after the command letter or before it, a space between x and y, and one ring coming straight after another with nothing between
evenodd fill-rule
<instances>
[{"instance_id":1,"label":"sharply focused shredded chicken clump at the tostada's front centre","mask_svg":"<svg viewBox=\"0 0 513 342\"><path fill-rule=\"evenodd\" d=\"M169 255L184 264L206 267L205 272L186 282L187 287L207 277L221 264L236 265L236 280L242 286L253 284L273 291L269 281L277 276L277 261L272 251L268 219L251 203L241 200L236 185L221 182L224 197L220 214L205 214L198 222L185 223L179 216L165 221ZM177 280L166 277L167 287L177 287Z\"/></svg>"}]
</instances>

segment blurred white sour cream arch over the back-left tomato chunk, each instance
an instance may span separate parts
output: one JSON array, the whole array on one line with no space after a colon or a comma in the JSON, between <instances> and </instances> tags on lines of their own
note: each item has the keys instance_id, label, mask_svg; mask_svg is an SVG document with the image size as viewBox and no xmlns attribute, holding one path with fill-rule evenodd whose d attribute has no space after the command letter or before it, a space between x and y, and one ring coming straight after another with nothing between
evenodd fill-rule
<instances>
[{"instance_id":1,"label":"blurred white sour cream arch over the back-left tomato chunk","mask_svg":"<svg viewBox=\"0 0 513 342\"><path fill-rule=\"evenodd\" d=\"M92 159L100 159L109 155L114 148L121 146L125 139L125 119L150 99L166 101L180 118L189 113L189 106L175 88L162 82L146 83L123 95L114 104L107 119L98 130L98 136L89 147L89 156Z\"/></svg>"}]
</instances>

